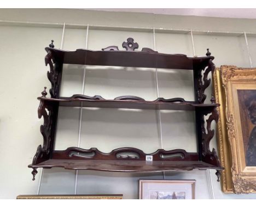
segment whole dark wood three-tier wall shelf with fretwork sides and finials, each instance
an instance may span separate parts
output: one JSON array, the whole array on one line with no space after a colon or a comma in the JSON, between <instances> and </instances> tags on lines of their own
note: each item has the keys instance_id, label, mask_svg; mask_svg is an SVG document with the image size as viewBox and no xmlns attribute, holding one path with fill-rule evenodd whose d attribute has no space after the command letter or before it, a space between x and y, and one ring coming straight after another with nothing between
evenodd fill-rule
<instances>
[{"instance_id":1,"label":"whole dark wood three-tier wall shelf with fretwork sides and finials","mask_svg":"<svg viewBox=\"0 0 256 208\"><path fill-rule=\"evenodd\" d=\"M44 143L37 148L32 164L33 180L37 168L63 167L65 169L88 169L113 172L161 172L170 170L216 169L219 181L220 166L217 151L210 150L209 143L214 136L211 129L212 121L218 121L215 102L212 95L211 103L204 103L205 89L210 85L208 74L213 73L214 57L207 49L206 57L188 58L184 54L162 54L142 48L135 51L138 44L132 38L123 42L126 51L119 51L117 46L103 48L102 51L79 49L77 51L62 51L54 48L53 41L46 47L45 64L50 66L47 76L51 82L49 90L51 97L46 97L46 87L42 96L38 97L40 105L38 117L44 118L40 126ZM104 66L131 66L142 68L187 69L194 73L195 101L185 101L181 97L165 99L159 97L154 101L146 101L136 96L120 96L106 100L99 95L72 95L60 97L60 85L63 64L84 64ZM131 109L170 109L177 111L194 111L196 116L197 152L186 152L182 149L163 150L146 154L136 148L119 148L104 153L96 148L81 149L76 147L66 150L54 150L57 114L60 106L65 107L97 107L97 108L131 108ZM47 111L46 111L47 110ZM204 117L211 114L205 120ZM153 156L153 161L146 161L147 156Z\"/></svg>"}]
</instances>

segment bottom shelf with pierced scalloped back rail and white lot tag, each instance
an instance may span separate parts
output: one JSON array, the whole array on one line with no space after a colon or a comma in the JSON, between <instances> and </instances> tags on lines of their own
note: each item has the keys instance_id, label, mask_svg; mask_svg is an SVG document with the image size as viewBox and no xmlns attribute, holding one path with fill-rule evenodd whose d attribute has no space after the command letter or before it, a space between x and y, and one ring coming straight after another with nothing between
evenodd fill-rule
<instances>
[{"instance_id":1,"label":"bottom shelf with pierced scalloped back rail and white lot tag","mask_svg":"<svg viewBox=\"0 0 256 208\"><path fill-rule=\"evenodd\" d=\"M39 148L40 149L40 148ZM40 151L38 151L40 152ZM118 148L109 153L97 148L81 149L70 147L66 150L54 150L51 157L43 159L38 154L28 167L33 168L33 180L37 168L62 167L72 170L100 170L108 172L163 172L173 170L216 169L219 180L219 163L200 160L197 152L187 152L183 149L159 149L152 154L146 154L136 148ZM50 155L50 154L49 154Z\"/></svg>"}]
</instances>

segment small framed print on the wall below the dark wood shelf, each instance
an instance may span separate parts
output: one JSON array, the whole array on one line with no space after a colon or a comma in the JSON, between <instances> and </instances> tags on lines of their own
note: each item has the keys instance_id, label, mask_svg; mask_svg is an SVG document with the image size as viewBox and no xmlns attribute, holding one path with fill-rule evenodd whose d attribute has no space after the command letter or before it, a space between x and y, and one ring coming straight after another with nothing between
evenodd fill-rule
<instances>
[{"instance_id":1,"label":"small framed print on the wall below the dark wood shelf","mask_svg":"<svg viewBox=\"0 0 256 208\"><path fill-rule=\"evenodd\" d=\"M195 199L195 180L139 180L139 199Z\"/></svg>"}]
</instances>

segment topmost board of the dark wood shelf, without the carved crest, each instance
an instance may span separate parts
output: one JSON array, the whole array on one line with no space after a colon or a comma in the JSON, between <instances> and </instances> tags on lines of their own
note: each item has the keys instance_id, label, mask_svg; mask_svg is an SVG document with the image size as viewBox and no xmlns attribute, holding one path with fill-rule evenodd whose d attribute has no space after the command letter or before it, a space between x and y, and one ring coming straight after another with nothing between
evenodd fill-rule
<instances>
[{"instance_id":1,"label":"topmost board of the dark wood shelf, without the carved crest","mask_svg":"<svg viewBox=\"0 0 256 208\"><path fill-rule=\"evenodd\" d=\"M197 69L195 66L207 65L209 59L214 59L212 56L190 58L184 54L164 54L155 51L63 51L50 47L46 47L45 50L51 52L54 59L63 64L193 70Z\"/></svg>"}]
</instances>

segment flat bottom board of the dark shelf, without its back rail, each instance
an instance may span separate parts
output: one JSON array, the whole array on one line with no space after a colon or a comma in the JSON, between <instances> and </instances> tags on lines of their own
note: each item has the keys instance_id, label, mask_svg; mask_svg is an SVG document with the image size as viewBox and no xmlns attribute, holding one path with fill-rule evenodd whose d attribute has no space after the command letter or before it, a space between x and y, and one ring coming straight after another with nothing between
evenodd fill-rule
<instances>
[{"instance_id":1,"label":"flat bottom board of the dark shelf, without its back rail","mask_svg":"<svg viewBox=\"0 0 256 208\"><path fill-rule=\"evenodd\" d=\"M57 160L50 159L30 168L62 167L72 170L101 170L109 172L162 172L170 170L217 169L202 161L141 161L141 160Z\"/></svg>"}]
</instances>

